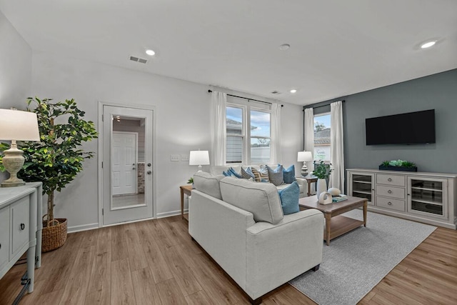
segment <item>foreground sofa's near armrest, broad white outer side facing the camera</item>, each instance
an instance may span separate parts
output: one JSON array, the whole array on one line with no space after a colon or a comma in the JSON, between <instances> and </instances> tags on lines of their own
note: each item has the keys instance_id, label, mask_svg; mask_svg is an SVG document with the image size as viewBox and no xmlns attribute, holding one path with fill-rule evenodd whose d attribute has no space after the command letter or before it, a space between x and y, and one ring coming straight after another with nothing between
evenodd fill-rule
<instances>
[{"instance_id":1,"label":"foreground sofa's near armrest, broad white outer side facing the camera","mask_svg":"<svg viewBox=\"0 0 457 305\"><path fill-rule=\"evenodd\" d=\"M256 298L321 264L323 214L308 209L248 228L246 291Z\"/></svg>"}]
</instances>

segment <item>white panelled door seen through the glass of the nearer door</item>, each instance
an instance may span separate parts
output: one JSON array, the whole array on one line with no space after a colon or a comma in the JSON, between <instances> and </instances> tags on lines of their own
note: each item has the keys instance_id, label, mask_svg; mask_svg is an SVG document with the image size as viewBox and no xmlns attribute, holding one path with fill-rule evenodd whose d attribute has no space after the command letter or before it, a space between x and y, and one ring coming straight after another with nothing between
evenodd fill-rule
<instances>
[{"instance_id":1,"label":"white panelled door seen through the glass of the nearer door","mask_svg":"<svg viewBox=\"0 0 457 305\"><path fill-rule=\"evenodd\" d=\"M113 131L111 174L113 195L136 194L136 133Z\"/></svg>"}]
</instances>

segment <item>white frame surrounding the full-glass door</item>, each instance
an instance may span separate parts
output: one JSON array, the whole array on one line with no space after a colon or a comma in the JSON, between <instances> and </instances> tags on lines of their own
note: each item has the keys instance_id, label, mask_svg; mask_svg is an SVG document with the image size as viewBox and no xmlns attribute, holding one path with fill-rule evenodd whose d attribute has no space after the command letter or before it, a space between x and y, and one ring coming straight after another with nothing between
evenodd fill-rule
<instances>
[{"instance_id":1,"label":"white frame surrounding the full-glass door","mask_svg":"<svg viewBox=\"0 0 457 305\"><path fill-rule=\"evenodd\" d=\"M104 151L103 151L103 108L104 106L114 106L114 107L125 107L125 108L134 108L134 109L146 109L146 110L151 110L152 111L152 218L146 218L146 219L140 219L140 220L134 220L134 221L126 221L123 222L122 224L128 224L131 222L136 222L136 221L144 221L148 219L156 219L157 218L157 200L156 200L156 106L151 106L151 105L145 105L145 104L129 104L129 103L114 103L114 102L109 102L109 101L100 101L99 100L99 138L98 138L98 144L99 144L99 151L97 154L97 166L98 166L98 172L99 172L99 228L102 228L103 225L103 181L104 181L104 174L103 174L103 167L102 166L111 166L111 164L103 164L103 156L104 156ZM107 178L109 179L109 177ZM116 226L117 224L109 224L106 226Z\"/></svg>"}]
</instances>

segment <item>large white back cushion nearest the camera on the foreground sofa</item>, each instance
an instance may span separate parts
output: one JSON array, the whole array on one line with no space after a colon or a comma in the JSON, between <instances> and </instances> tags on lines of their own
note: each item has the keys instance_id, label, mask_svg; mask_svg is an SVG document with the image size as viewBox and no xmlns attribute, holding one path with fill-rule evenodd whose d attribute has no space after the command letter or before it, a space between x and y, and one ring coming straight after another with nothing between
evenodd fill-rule
<instances>
[{"instance_id":1,"label":"large white back cushion nearest the camera on the foreground sofa","mask_svg":"<svg viewBox=\"0 0 457 305\"><path fill-rule=\"evenodd\" d=\"M233 177L225 177L220 184L222 200L245 211L250 211L255 221L277 224L283 219L278 190L273 184L259 184Z\"/></svg>"}]
</instances>

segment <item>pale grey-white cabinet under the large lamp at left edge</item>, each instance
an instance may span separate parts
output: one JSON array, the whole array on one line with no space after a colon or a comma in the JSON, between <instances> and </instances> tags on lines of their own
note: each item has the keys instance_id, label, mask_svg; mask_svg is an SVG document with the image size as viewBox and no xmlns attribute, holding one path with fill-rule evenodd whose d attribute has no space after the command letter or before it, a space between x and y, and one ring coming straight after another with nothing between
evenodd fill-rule
<instances>
[{"instance_id":1,"label":"pale grey-white cabinet under the large lamp at left edge","mask_svg":"<svg viewBox=\"0 0 457 305\"><path fill-rule=\"evenodd\" d=\"M29 293L41 262L41 190L41 182L0 188L0 279L27 252Z\"/></svg>"}]
</instances>

